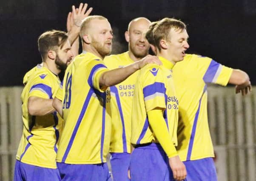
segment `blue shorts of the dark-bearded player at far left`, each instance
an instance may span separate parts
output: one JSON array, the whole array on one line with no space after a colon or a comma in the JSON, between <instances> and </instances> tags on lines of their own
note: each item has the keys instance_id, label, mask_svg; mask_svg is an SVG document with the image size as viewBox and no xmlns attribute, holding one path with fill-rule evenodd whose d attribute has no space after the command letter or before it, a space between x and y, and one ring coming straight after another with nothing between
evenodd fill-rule
<instances>
[{"instance_id":1,"label":"blue shorts of the dark-bearded player at far left","mask_svg":"<svg viewBox=\"0 0 256 181\"><path fill-rule=\"evenodd\" d=\"M58 169L38 167L16 160L14 181L60 181Z\"/></svg>"}]
</instances>

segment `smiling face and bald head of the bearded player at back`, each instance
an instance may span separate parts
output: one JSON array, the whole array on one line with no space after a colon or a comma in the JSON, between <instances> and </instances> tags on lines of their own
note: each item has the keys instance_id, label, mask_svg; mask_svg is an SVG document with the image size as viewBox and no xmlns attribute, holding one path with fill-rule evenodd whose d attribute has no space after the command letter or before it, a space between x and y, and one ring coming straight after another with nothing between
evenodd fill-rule
<instances>
[{"instance_id":1,"label":"smiling face and bald head of the bearded player at back","mask_svg":"<svg viewBox=\"0 0 256 181\"><path fill-rule=\"evenodd\" d=\"M150 21L146 18L133 20L125 32L125 39L129 42L129 51L136 58L143 58L148 55L149 43L145 39L145 33L149 28Z\"/></svg>"}]
</instances>

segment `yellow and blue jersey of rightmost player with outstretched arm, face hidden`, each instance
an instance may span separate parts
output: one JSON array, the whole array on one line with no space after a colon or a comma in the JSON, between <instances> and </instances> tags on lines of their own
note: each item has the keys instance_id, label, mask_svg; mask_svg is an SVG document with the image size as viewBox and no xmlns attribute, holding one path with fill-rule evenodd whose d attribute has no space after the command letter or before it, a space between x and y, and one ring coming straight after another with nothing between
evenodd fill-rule
<instances>
[{"instance_id":1,"label":"yellow and blue jersey of rightmost player with outstretched arm, face hidden","mask_svg":"<svg viewBox=\"0 0 256 181\"><path fill-rule=\"evenodd\" d=\"M179 99L177 151L182 161L214 157L207 117L207 83L227 85L232 69L208 57L191 55L173 68Z\"/></svg>"}]
</instances>

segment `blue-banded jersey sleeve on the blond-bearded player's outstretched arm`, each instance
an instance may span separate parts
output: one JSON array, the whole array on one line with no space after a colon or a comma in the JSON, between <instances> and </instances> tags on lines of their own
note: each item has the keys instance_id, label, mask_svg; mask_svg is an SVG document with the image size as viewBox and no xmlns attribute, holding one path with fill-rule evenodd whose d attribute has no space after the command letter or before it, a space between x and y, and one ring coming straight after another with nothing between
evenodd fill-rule
<instances>
[{"instance_id":1,"label":"blue-banded jersey sleeve on the blond-bearded player's outstretched arm","mask_svg":"<svg viewBox=\"0 0 256 181\"><path fill-rule=\"evenodd\" d=\"M94 87L94 89L99 90L100 92L105 92L106 88L101 89L100 88L100 77L104 72L107 72L108 69L105 66L104 62L102 60L93 60L91 62L91 73L89 75L89 84L91 87Z\"/></svg>"}]
</instances>

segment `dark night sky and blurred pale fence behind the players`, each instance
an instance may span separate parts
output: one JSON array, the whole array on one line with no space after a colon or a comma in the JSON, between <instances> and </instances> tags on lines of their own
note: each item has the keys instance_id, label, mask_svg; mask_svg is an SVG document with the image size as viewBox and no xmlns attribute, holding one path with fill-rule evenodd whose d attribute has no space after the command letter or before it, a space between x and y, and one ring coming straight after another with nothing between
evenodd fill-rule
<instances>
[{"instance_id":1,"label":"dark night sky and blurred pale fence behind the players","mask_svg":"<svg viewBox=\"0 0 256 181\"><path fill-rule=\"evenodd\" d=\"M80 0L0 0L0 180L12 180L22 120L23 75L41 62L37 38L66 31L71 6ZM87 0L92 14L107 17L114 30L112 53L128 50L124 33L136 17L181 19L188 26L188 53L209 56L244 70L256 85L256 0ZM219 181L256 178L256 87L249 96L234 88L210 87L209 122Z\"/></svg>"}]
</instances>

